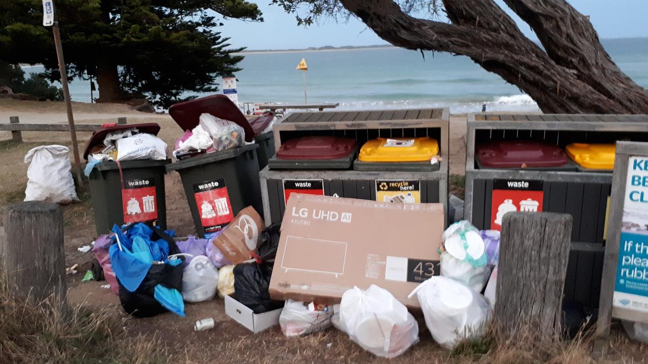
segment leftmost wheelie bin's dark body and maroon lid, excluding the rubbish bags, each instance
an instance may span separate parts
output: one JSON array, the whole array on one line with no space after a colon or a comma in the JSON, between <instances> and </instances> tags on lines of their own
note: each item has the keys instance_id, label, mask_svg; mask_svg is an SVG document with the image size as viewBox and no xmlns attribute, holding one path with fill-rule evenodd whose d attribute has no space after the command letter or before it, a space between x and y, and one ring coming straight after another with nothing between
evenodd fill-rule
<instances>
[{"instance_id":1,"label":"leftmost wheelie bin's dark body and maroon lid, excluding the rubbish bags","mask_svg":"<svg viewBox=\"0 0 648 364\"><path fill-rule=\"evenodd\" d=\"M138 133L157 135L157 123L119 124L105 127L92 134L84 150L84 158L100 153L109 133L137 129ZM110 231L113 224L147 222L167 228L165 197L165 166L170 160L111 160L97 164L88 179L97 234ZM121 169L121 170L120 170ZM126 201L124 201L126 197ZM134 200L133 200L134 198ZM132 207L129 211L129 203Z\"/></svg>"}]
</instances>

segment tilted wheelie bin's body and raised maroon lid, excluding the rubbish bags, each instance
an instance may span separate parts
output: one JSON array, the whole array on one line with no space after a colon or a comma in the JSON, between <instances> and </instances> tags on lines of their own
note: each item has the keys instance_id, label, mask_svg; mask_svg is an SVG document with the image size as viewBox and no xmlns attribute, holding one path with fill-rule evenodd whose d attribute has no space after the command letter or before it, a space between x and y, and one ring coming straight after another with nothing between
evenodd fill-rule
<instances>
[{"instance_id":1,"label":"tilted wheelie bin's body and raised maroon lid, excluding the rubbish bags","mask_svg":"<svg viewBox=\"0 0 648 364\"><path fill-rule=\"evenodd\" d=\"M207 96L176 103L169 108L169 114L184 131L194 129L203 113L241 125L245 140L253 140L252 126L227 96ZM248 206L253 206L259 213L263 211L257 149L259 145L248 144L190 156L167 166L168 172L178 171L180 175L198 236L205 237L222 230Z\"/></svg>"}]
</instances>

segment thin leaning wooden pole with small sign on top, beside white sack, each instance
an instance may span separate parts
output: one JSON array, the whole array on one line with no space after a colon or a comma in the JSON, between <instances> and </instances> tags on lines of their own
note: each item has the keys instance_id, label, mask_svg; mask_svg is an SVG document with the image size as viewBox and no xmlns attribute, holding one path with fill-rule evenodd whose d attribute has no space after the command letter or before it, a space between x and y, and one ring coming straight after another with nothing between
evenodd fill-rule
<instances>
[{"instance_id":1,"label":"thin leaning wooden pole with small sign on top, beside white sack","mask_svg":"<svg viewBox=\"0 0 648 364\"><path fill-rule=\"evenodd\" d=\"M65 71L65 60L63 58L63 47L61 45L61 33L58 29L58 21L54 19L54 0L43 0L43 25L52 27L54 33L54 46L56 47L56 56L58 57L58 70L61 74L61 84L63 85L63 96L65 97L65 107L67 110L67 123L70 127L70 138L72 140L72 151L75 157L76 182L78 186L83 185L81 177L81 161L79 159L79 147L76 141L75 118L72 114L72 100L70 99L70 89L67 85L67 72Z\"/></svg>"}]
</instances>

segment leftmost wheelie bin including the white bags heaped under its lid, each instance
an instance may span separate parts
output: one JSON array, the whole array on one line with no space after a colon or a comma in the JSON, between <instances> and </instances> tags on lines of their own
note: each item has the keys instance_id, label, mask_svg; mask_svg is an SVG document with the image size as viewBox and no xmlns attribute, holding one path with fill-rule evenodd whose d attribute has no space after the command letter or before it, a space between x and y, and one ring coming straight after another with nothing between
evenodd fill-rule
<instances>
[{"instance_id":1,"label":"leftmost wheelie bin including the white bags heaped under its lid","mask_svg":"<svg viewBox=\"0 0 648 364\"><path fill-rule=\"evenodd\" d=\"M84 158L98 235L129 222L167 227L164 177L170 160L156 137L159 130L157 123L114 125L88 141Z\"/></svg>"}]
</instances>

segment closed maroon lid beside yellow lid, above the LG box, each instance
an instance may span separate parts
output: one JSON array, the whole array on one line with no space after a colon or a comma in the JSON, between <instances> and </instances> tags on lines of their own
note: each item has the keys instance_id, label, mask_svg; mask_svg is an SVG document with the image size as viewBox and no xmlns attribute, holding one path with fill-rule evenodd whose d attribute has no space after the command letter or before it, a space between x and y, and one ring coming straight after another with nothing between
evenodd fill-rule
<instances>
[{"instance_id":1,"label":"closed maroon lid beside yellow lid, above the LG box","mask_svg":"<svg viewBox=\"0 0 648 364\"><path fill-rule=\"evenodd\" d=\"M337 136L304 136L281 144L277 158L292 160L339 159L353 153L356 141Z\"/></svg>"}]
</instances>

